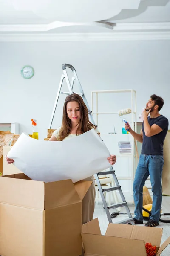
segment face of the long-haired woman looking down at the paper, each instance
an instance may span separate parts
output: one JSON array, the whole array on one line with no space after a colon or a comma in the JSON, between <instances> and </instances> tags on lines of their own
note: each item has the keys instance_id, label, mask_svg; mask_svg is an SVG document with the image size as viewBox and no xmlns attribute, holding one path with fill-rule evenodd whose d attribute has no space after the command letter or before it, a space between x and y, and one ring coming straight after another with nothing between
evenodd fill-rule
<instances>
[{"instance_id":1,"label":"face of the long-haired woman looking down at the paper","mask_svg":"<svg viewBox=\"0 0 170 256\"><path fill-rule=\"evenodd\" d=\"M80 108L77 101L71 101L67 103L67 115L71 122L78 123L80 119Z\"/></svg>"}]
</instances>

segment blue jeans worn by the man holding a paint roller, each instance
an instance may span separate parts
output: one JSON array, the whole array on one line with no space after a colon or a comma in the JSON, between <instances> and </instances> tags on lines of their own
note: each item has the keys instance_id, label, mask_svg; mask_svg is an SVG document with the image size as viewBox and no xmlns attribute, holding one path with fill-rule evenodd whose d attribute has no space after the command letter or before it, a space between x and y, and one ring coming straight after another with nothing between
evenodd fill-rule
<instances>
[{"instance_id":1,"label":"blue jeans worn by the man holding a paint roller","mask_svg":"<svg viewBox=\"0 0 170 256\"><path fill-rule=\"evenodd\" d=\"M164 158L162 155L144 155L141 154L139 163L136 169L135 179L133 182L133 197L135 202L135 217L142 221L142 206L143 206L143 186L148 176L153 192L153 205L151 219L159 222L161 203L162 203L162 169Z\"/></svg>"}]
</instances>

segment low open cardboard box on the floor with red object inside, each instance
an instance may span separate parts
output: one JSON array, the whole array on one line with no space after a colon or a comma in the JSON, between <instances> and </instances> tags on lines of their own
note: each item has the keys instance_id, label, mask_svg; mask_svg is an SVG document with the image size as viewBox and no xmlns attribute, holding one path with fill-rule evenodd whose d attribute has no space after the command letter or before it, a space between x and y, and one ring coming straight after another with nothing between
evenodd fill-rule
<instances>
[{"instance_id":1,"label":"low open cardboard box on the floor with red object inside","mask_svg":"<svg viewBox=\"0 0 170 256\"><path fill-rule=\"evenodd\" d=\"M170 244L169 237L160 247L162 232L162 228L110 223L102 236L99 221L94 219L82 225L85 256L147 256L146 243L156 246L159 256Z\"/></svg>"}]
</instances>

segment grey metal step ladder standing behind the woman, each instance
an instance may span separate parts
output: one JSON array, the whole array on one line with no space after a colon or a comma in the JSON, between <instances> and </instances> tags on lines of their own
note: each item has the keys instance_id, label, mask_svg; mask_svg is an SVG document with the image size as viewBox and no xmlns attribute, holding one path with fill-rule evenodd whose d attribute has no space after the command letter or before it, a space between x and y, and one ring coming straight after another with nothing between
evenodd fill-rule
<instances>
[{"instance_id":1,"label":"grey metal step ladder standing behind the woman","mask_svg":"<svg viewBox=\"0 0 170 256\"><path fill-rule=\"evenodd\" d=\"M68 78L68 73L67 73L66 68L70 68L72 73L73 73L71 82L70 82L70 80ZM82 99L84 100L84 102L85 102L85 104L86 104L86 106L88 108L89 119L90 119L91 123L93 123L95 125L94 118L93 118L93 115L92 115L92 111L89 108L87 99L85 97L85 93L82 90L82 86L81 86L81 84L79 82L79 79L78 79L78 76L77 76L75 68L72 65L70 65L70 64L63 64L62 65L62 70L63 70L63 74L62 74L62 77L61 77L61 80L60 80L60 83L59 83L59 88L58 88L57 96L56 96L56 99L55 99L54 108L53 108L53 111L52 111L49 128L51 129L51 126L52 126L52 123L53 123L55 111L56 111L56 108L57 108L57 103L58 103L58 100L59 100L59 95L60 94L70 95L72 93L77 93L80 96L82 96ZM62 92L61 91L64 79L65 79L65 81L67 83L67 86L68 86L68 92ZM77 82L77 85L78 85L78 88L79 88L79 92L73 91L74 81ZM102 186L101 186L100 180L99 180L99 176L100 175L108 175L108 174L109 175L113 175L113 180L114 180L116 186L110 187L110 188L107 188L107 189L102 189ZM98 186L101 198L102 198L102 202L103 202L103 205L104 205L105 212L106 212L106 215L108 217L109 223L112 223L112 218L111 218L111 214L110 214L109 210L116 209L116 208L119 208L119 207L125 207L127 215L128 215L128 218L123 220L123 221L116 222L116 223L120 223L120 224L131 223L131 224L133 224L132 215L130 213L129 207L127 205L127 202L125 200L125 197L124 197L122 189L121 189L121 186L119 185L119 182L118 182L117 177L115 175L115 171L113 170L113 167L111 166L110 171L99 172L96 175L94 175L94 177L96 179L96 183L97 183L97 186ZM118 204L113 204L111 206L108 206L107 202L105 200L105 196L104 196L103 193L104 192L111 192L111 191L115 191L115 190L119 191L119 194L120 194L120 196L122 198L122 202L118 203Z\"/></svg>"}]
</instances>

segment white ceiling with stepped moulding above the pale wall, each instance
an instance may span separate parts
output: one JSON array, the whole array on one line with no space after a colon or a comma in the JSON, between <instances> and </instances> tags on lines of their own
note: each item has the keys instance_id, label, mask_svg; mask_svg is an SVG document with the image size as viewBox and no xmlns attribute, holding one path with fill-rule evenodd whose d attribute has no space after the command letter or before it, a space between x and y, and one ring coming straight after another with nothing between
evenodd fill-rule
<instances>
[{"instance_id":1,"label":"white ceiling with stepped moulding above the pale wall","mask_svg":"<svg viewBox=\"0 0 170 256\"><path fill-rule=\"evenodd\" d=\"M170 32L170 0L0 0L0 36Z\"/></svg>"}]
</instances>

